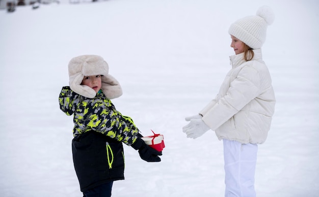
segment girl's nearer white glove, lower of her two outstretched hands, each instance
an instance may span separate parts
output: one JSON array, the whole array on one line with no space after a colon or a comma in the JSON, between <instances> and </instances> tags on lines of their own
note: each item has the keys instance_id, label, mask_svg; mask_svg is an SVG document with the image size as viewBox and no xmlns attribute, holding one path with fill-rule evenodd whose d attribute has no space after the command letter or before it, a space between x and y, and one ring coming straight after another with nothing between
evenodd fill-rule
<instances>
[{"instance_id":1,"label":"girl's nearer white glove, lower of her two outstretched hands","mask_svg":"<svg viewBox=\"0 0 319 197\"><path fill-rule=\"evenodd\" d=\"M187 135L187 138L193 139L202 136L209 129L209 126L202 119L191 119L188 125L183 126L183 132Z\"/></svg>"}]
</instances>

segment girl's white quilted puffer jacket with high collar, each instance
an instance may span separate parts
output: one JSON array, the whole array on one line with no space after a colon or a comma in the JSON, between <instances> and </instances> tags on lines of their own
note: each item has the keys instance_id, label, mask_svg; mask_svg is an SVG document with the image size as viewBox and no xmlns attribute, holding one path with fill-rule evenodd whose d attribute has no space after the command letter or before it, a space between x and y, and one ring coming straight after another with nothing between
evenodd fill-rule
<instances>
[{"instance_id":1,"label":"girl's white quilted puffer jacket with high collar","mask_svg":"<svg viewBox=\"0 0 319 197\"><path fill-rule=\"evenodd\" d=\"M262 144L267 139L276 100L261 49L253 51L250 61L244 53L230 56L232 69L218 95L199 112L219 140Z\"/></svg>"}]
</instances>

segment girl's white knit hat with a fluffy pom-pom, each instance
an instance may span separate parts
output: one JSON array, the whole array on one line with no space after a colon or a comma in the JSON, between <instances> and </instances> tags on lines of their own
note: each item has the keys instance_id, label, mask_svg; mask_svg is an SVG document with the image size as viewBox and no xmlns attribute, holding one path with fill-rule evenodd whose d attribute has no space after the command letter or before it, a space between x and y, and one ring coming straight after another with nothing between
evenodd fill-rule
<instances>
[{"instance_id":1,"label":"girl's white knit hat with a fluffy pom-pom","mask_svg":"<svg viewBox=\"0 0 319 197\"><path fill-rule=\"evenodd\" d=\"M261 48L266 40L267 26L274 22L275 15L268 6L258 9L256 16L247 16L232 23L228 33L252 49Z\"/></svg>"}]
</instances>

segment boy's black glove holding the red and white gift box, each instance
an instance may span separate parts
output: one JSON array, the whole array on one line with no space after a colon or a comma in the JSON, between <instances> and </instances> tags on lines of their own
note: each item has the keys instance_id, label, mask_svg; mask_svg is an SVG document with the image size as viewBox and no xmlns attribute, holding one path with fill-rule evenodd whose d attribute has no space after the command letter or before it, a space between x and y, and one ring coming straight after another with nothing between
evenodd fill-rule
<instances>
[{"instance_id":1,"label":"boy's black glove holding the red and white gift box","mask_svg":"<svg viewBox=\"0 0 319 197\"><path fill-rule=\"evenodd\" d=\"M141 136L142 135L139 134L138 139L134 144L131 145L131 147L135 150L139 150L140 157L147 162L161 161L161 158L159 158L158 155L162 155L162 152L159 152L145 144L144 140L141 139Z\"/></svg>"}]
</instances>

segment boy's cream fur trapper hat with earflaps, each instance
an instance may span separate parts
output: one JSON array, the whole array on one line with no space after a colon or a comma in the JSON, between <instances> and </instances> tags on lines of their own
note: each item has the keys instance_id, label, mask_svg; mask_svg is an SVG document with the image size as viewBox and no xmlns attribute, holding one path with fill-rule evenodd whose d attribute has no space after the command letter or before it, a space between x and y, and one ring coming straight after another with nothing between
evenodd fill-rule
<instances>
[{"instance_id":1,"label":"boy's cream fur trapper hat with earflaps","mask_svg":"<svg viewBox=\"0 0 319 197\"><path fill-rule=\"evenodd\" d=\"M81 85L84 76L101 75L101 90L107 98L122 95L119 82L109 75L109 65L98 55L81 55L73 57L69 62L69 84L71 90L85 97L94 98L94 89Z\"/></svg>"}]
</instances>

